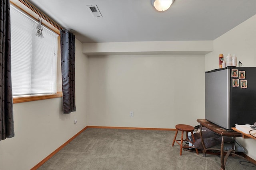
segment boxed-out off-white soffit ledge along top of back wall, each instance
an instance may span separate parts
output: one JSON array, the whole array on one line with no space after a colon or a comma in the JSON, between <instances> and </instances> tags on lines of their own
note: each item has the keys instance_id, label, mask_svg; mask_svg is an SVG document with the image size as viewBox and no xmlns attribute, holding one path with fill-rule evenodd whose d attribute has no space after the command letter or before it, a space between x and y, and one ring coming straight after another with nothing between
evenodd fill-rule
<instances>
[{"instance_id":1,"label":"boxed-out off-white soffit ledge along top of back wall","mask_svg":"<svg viewBox=\"0 0 256 170\"><path fill-rule=\"evenodd\" d=\"M93 55L206 55L213 41L149 41L83 43L82 53Z\"/></svg>"}]
</instances>

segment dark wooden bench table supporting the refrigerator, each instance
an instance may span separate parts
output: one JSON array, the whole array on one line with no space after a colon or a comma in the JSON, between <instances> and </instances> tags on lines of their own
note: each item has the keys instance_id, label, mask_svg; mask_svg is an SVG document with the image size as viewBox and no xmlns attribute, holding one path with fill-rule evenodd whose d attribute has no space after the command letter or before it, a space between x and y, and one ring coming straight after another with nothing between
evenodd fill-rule
<instances>
[{"instance_id":1,"label":"dark wooden bench table supporting the refrigerator","mask_svg":"<svg viewBox=\"0 0 256 170\"><path fill-rule=\"evenodd\" d=\"M226 151L224 150L224 136L228 136L228 137L233 137L234 141L236 141L236 137L242 137L242 134L236 131L227 131L226 129L206 120L206 119L197 119L198 123L200 123L201 125L201 131L200 131L200 136L201 136L201 141L202 141L202 145L203 145L203 154L204 157L206 157L206 150L219 150L220 151L220 169L221 170L225 170L225 165L226 162L228 160L228 156L230 154L238 156L240 158L244 158L238 154L235 154L235 143L232 145L232 149ZM204 140L202 137L202 127L206 127L208 129L210 129L211 131L213 131L214 133L217 133L218 135L222 136L222 141L221 141L221 147L220 149L211 149L211 148L206 148L205 144L204 144ZM224 152L226 152L226 156L224 158ZM245 158L244 158L245 159Z\"/></svg>"}]
</instances>

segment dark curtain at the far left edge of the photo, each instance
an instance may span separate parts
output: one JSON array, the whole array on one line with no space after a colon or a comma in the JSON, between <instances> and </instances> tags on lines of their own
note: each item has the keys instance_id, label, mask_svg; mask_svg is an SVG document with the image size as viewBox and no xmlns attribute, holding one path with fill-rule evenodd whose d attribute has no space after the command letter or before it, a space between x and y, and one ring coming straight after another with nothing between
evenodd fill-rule
<instances>
[{"instance_id":1,"label":"dark curtain at the far left edge of the photo","mask_svg":"<svg viewBox=\"0 0 256 170\"><path fill-rule=\"evenodd\" d=\"M0 2L0 140L14 137L11 76L10 2Z\"/></svg>"}]
</instances>

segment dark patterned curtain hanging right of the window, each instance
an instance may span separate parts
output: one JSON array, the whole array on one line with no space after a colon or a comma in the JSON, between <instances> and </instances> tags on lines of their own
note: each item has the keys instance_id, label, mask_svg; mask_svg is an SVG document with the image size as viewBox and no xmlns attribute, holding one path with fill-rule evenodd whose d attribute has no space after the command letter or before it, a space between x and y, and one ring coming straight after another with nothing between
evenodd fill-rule
<instances>
[{"instance_id":1,"label":"dark patterned curtain hanging right of the window","mask_svg":"<svg viewBox=\"0 0 256 170\"><path fill-rule=\"evenodd\" d=\"M76 111L75 100L75 35L60 29L62 98L64 114Z\"/></svg>"}]
</instances>

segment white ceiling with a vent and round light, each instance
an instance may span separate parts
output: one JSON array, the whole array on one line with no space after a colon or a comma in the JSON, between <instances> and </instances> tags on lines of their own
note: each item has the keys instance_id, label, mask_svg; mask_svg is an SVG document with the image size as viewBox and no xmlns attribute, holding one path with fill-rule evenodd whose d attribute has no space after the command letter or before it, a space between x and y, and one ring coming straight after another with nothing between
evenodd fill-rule
<instances>
[{"instance_id":1,"label":"white ceiling with a vent and round light","mask_svg":"<svg viewBox=\"0 0 256 170\"><path fill-rule=\"evenodd\" d=\"M214 40L256 14L256 0L29 0L82 43ZM97 5L94 18L86 5Z\"/></svg>"}]
</instances>

